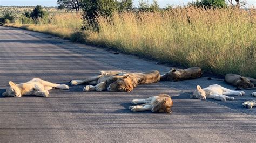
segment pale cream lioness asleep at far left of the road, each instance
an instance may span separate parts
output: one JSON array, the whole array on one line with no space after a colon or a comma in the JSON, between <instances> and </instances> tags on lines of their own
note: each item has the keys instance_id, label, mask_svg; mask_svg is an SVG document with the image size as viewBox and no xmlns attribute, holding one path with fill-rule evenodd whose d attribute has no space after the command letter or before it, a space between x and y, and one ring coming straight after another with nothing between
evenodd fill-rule
<instances>
[{"instance_id":1,"label":"pale cream lioness asleep at far left of the road","mask_svg":"<svg viewBox=\"0 0 256 143\"><path fill-rule=\"evenodd\" d=\"M48 90L58 88L58 89L69 89L68 85L65 84L55 84L48 81L41 80L39 78L33 78L26 83L15 84L14 82L9 82L9 87L6 89L2 95L6 97L22 97L23 95L36 95L41 97L48 97Z\"/></svg>"}]
</instances>

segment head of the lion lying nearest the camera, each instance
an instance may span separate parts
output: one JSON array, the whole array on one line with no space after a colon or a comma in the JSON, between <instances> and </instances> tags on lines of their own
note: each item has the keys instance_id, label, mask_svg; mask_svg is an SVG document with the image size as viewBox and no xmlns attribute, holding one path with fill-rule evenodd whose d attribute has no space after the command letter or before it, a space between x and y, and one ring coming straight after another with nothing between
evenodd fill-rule
<instances>
[{"instance_id":1,"label":"head of the lion lying nearest the camera","mask_svg":"<svg viewBox=\"0 0 256 143\"><path fill-rule=\"evenodd\" d=\"M159 97L153 102L153 108L151 109L154 113L172 113L172 99L170 97Z\"/></svg>"}]
</instances>

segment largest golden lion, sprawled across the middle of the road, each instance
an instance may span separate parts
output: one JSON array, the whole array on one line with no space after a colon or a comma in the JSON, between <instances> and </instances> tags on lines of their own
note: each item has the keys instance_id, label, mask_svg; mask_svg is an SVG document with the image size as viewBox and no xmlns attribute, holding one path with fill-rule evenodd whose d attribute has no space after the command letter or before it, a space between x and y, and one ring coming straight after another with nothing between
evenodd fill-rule
<instances>
[{"instance_id":1,"label":"largest golden lion, sprawled across the middle of the road","mask_svg":"<svg viewBox=\"0 0 256 143\"><path fill-rule=\"evenodd\" d=\"M85 80L72 80L71 85L87 83L83 91L121 91L131 92L138 84L149 84L160 81L160 73L157 70L146 73L127 73L124 71L100 71L100 75Z\"/></svg>"}]
</instances>

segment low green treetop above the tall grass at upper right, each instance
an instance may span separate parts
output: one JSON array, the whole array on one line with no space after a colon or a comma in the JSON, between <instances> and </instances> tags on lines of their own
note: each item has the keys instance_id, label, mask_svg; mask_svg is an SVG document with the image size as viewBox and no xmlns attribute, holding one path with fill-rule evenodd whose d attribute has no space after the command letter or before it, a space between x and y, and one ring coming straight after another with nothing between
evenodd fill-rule
<instances>
[{"instance_id":1,"label":"low green treetop above the tall grass at upper right","mask_svg":"<svg viewBox=\"0 0 256 143\"><path fill-rule=\"evenodd\" d=\"M188 3L188 5L205 8L225 8L227 3L225 0L197 0L196 2Z\"/></svg>"}]
</instances>

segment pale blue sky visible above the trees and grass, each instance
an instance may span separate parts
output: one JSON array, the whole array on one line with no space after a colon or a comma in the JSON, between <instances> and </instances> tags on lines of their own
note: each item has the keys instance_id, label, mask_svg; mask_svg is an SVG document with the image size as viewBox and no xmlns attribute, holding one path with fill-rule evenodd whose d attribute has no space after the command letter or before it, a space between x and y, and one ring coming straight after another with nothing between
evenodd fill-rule
<instances>
[{"instance_id":1,"label":"pale blue sky visible above the trees and grass","mask_svg":"<svg viewBox=\"0 0 256 143\"><path fill-rule=\"evenodd\" d=\"M145 0L147 1L147 0ZM148 0L149 3L152 0ZM188 2L196 1L196 0L158 0L158 3L161 8L164 8L167 4L176 6L176 5L186 5ZM256 6L256 0L247 0L247 3L250 5ZM0 0L0 5L3 6L57 6L57 0ZM138 0L134 0L134 6L139 5Z\"/></svg>"}]
</instances>

